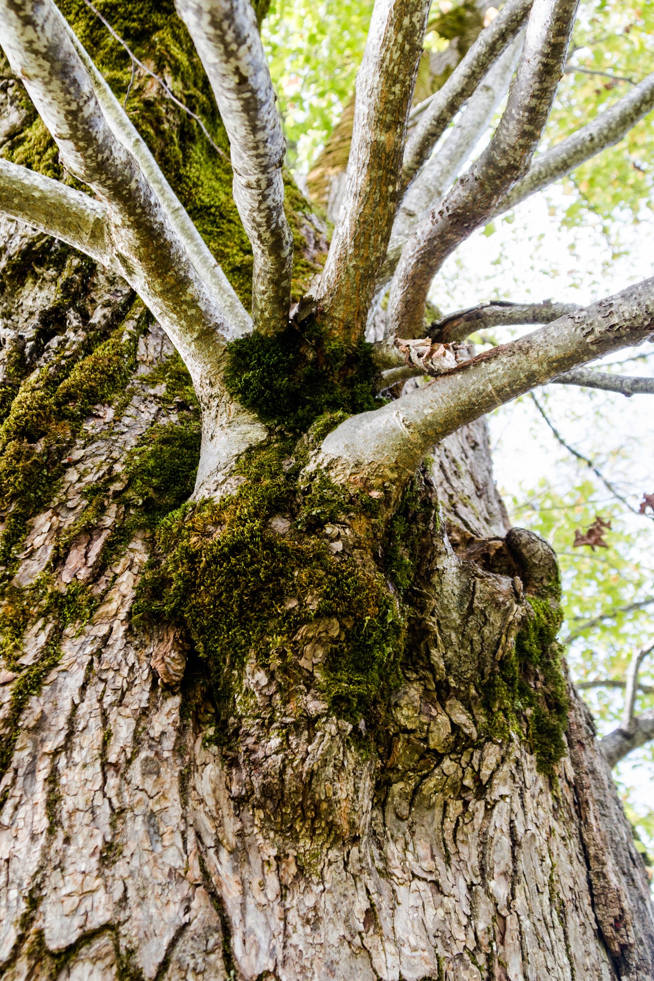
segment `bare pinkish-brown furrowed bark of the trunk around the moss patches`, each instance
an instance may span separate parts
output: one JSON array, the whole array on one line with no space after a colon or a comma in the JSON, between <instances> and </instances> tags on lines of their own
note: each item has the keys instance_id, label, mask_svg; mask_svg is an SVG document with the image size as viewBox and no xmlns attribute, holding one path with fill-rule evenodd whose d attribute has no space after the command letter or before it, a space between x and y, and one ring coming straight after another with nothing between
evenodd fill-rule
<instances>
[{"instance_id":1,"label":"bare pinkish-brown furrowed bark of the trunk around the moss patches","mask_svg":"<svg viewBox=\"0 0 654 981\"><path fill-rule=\"evenodd\" d=\"M38 354L39 332L25 325L47 323L38 314L56 299L58 253L5 229L3 313L15 328L4 361L23 332L35 372L86 331L70 314L58 344ZM29 269L30 256L39 272L21 287L13 270ZM133 302L121 281L93 273L83 300L89 330L136 330L134 314L121 320ZM293 704L253 658L234 742L203 745L213 708L181 711L184 657L165 632L130 624L146 533L108 564L100 554L129 511L126 453L188 415L152 383L171 355L159 328L140 334L127 404L92 406L21 546L14 607L44 573L50 589L85 587L98 604L63 629L47 613L27 623L14 677L2 676L3 736L16 739L2 782L3 978L38 965L62 981L459 981L479 970L644 981L644 870L582 708L573 702L576 755L557 767L556 793L519 735L478 738L480 679L511 649L529 591L553 568L537 540L505 541L483 423L445 440L420 478L441 516L425 526L405 680L372 752L326 712L310 657ZM84 524L86 489L99 485L101 506ZM500 559L504 572L491 571ZM301 646L295 656L307 663ZM158 683L153 657L172 687ZM27 672L41 687L17 716Z\"/></svg>"}]
</instances>

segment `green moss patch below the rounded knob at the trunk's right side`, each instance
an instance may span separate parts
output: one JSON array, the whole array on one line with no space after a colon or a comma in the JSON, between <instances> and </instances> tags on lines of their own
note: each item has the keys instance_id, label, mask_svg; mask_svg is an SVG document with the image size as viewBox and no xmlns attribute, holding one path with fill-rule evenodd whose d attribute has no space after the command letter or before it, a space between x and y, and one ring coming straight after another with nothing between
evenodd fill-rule
<instances>
[{"instance_id":1,"label":"green moss patch below the rounded knob at the trunk's right side","mask_svg":"<svg viewBox=\"0 0 654 981\"><path fill-rule=\"evenodd\" d=\"M532 615L518 633L509 657L484 682L482 702L489 732L507 739L521 733L526 718L526 740L542 773L552 773L565 754L568 722L566 680L561 667L557 634L562 613L558 599L529 596Z\"/></svg>"}]
</instances>

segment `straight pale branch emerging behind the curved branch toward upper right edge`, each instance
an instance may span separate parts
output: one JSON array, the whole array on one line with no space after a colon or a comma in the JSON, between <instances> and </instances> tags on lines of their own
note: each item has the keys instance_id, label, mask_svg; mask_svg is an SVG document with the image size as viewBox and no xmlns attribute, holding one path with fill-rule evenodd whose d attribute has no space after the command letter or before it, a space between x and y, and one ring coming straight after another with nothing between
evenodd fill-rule
<instances>
[{"instance_id":1,"label":"straight pale branch emerging behind the curved branch toward upper right edge","mask_svg":"<svg viewBox=\"0 0 654 981\"><path fill-rule=\"evenodd\" d=\"M643 78L627 95L615 102L591 123L540 154L522 178L507 194L492 217L515 208L520 201L542 190L553 181L570 174L586 160L615 143L619 143L644 116L654 109L654 72Z\"/></svg>"}]
</instances>

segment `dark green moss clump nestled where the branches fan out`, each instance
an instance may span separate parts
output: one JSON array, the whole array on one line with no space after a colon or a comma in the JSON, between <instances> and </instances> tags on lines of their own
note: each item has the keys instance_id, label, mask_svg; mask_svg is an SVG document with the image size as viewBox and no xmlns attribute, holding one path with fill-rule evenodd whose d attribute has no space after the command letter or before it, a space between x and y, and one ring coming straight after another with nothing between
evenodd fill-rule
<instances>
[{"instance_id":1,"label":"dark green moss clump nestled where the branches fan out","mask_svg":"<svg viewBox=\"0 0 654 981\"><path fill-rule=\"evenodd\" d=\"M377 408L372 345L349 349L316 327L251 334L228 345L224 382L242 405L287 432L305 431L324 413Z\"/></svg>"}]
</instances>

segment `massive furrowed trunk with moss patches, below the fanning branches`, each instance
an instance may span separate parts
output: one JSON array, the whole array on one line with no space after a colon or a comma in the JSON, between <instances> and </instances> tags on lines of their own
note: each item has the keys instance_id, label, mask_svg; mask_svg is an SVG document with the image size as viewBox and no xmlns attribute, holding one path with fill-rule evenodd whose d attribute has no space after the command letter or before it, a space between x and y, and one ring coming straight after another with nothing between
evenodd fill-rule
<instances>
[{"instance_id":1,"label":"massive furrowed trunk with moss patches, below the fanning branches","mask_svg":"<svg viewBox=\"0 0 654 981\"><path fill-rule=\"evenodd\" d=\"M158 325L14 222L0 276L1 976L652 978L644 867L564 691L556 560L509 529L485 424L383 527L303 483L310 433L177 510L200 423ZM212 606L211 549L282 472L292 494L251 497L263 592L237 563Z\"/></svg>"}]
</instances>

